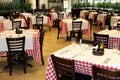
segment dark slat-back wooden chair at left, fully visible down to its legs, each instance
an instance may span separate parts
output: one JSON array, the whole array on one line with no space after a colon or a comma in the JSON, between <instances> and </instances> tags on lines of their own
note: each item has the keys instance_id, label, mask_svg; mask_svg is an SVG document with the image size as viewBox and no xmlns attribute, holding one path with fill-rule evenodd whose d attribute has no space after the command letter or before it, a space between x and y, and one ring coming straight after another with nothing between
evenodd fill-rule
<instances>
[{"instance_id":1,"label":"dark slat-back wooden chair at left, fully visible down to its legs","mask_svg":"<svg viewBox=\"0 0 120 80\"><path fill-rule=\"evenodd\" d=\"M8 67L10 69L9 74L12 75L12 66L13 61L16 56L19 56L19 59L22 60L24 73L26 73L26 67L27 67L27 53L25 52L25 37L19 37L19 38L6 38L7 41L7 62Z\"/></svg>"}]
</instances>

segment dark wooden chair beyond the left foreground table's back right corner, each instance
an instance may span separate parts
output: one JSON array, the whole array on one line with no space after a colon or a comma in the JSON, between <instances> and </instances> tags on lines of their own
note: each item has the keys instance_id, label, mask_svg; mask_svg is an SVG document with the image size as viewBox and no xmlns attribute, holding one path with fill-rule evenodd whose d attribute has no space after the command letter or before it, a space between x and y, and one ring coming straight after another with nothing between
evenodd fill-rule
<instances>
[{"instance_id":1,"label":"dark wooden chair beyond the left foreground table's back right corner","mask_svg":"<svg viewBox=\"0 0 120 80\"><path fill-rule=\"evenodd\" d=\"M43 30L43 17L37 16L36 17L36 24L33 25L33 28L37 27L40 31Z\"/></svg>"}]
</instances>

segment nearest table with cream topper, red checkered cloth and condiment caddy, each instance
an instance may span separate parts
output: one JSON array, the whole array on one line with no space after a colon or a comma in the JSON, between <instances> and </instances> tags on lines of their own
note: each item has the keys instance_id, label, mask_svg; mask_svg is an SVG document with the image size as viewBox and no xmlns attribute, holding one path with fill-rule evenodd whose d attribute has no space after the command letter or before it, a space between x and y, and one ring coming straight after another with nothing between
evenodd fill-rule
<instances>
[{"instance_id":1,"label":"nearest table with cream topper, red checkered cloth and condiment caddy","mask_svg":"<svg viewBox=\"0 0 120 80\"><path fill-rule=\"evenodd\" d=\"M74 60L75 72L93 76L92 66L96 65L104 69L120 70L120 51L117 54L113 53L112 49L104 49L103 55L94 55L93 46L88 44L70 44L54 54L57 57L67 60ZM48 57L48 65L46 68L46 80L57 80L55 68L51 55Z\"/></svg>"}]
</instances>

